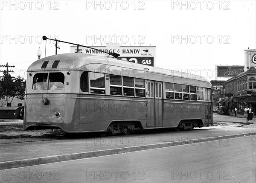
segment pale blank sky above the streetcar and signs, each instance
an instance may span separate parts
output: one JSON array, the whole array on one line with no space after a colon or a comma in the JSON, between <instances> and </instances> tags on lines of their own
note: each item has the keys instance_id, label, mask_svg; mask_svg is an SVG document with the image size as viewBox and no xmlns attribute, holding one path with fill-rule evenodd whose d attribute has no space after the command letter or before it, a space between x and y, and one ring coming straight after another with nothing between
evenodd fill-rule
<instances>
[{"instance_id":1,"label":"pale blank sky above the streetcar and signs","mask_svg":"<svg viewBox=\"0 0 256 183\"><path fill-rule=\"evenodd\" d=\"M256 1L0 0L0 65L14 65L12 76L26 79L39 47L41 58L55 54L44 35L87 46L110 38L156 46L156 67L210 81L215 65L244 65L244 50L256 49ZM69 44L59 46L58 53L70 53Z\"/></svg>"}]
</instances>

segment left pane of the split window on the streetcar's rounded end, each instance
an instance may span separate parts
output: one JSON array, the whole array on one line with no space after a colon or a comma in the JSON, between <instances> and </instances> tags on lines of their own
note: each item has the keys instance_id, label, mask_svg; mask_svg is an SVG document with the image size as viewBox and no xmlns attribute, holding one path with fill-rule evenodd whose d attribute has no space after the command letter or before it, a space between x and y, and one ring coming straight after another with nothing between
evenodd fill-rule
<instances>
[{"instance_id":1,"label":"left pane of the split window on the streetcar's rounded end","mask_svg":"<svg viewBox=\"0 0 256 183\"><path fill-rule=\"evenodd\" d=\"M47 89L48 73L36 73L33 78L33 90L46 90Z\"/></svg>"}]
</instances>

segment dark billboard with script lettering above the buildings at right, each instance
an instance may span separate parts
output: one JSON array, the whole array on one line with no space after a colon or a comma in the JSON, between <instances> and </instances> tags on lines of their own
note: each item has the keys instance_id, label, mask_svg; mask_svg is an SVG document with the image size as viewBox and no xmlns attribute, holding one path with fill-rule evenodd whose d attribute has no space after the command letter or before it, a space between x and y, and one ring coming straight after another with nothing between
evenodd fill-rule
<instances>
[{"instance_id":1,"label":"dark billboard with script lettering above the buildings at right","mask_svg":"<svg viewBox=\"0 0 256 183\"><path fill-rule=\"evenodd\" d=\"M244 65L216 65L217 78L232 78L244 72Z\"/></svg>"}]
</instances>

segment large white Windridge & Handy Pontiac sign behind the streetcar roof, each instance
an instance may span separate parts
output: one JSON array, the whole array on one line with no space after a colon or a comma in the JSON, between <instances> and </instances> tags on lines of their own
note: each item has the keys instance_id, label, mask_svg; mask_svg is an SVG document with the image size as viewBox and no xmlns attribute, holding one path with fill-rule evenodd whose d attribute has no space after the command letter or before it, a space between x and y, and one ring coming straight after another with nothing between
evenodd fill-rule
<instances>
[{"instance_id":1,"label":"large white Windridge & Handy Pontiac sign behind the streetcar roof","mask_svg":"<svg viewBox=\"0 0 256 183\"><path fill-rule=\"evenodd\" d=\"M120 54L119 58L130 62L143 65L155 66L155 46L119 46L119 44L106 44L106 46L90 46L98 50L90 48L71 46L71 53L87 53L99 56L108 56L105 52L115 52Z\"/></svg>"}]
</instances>

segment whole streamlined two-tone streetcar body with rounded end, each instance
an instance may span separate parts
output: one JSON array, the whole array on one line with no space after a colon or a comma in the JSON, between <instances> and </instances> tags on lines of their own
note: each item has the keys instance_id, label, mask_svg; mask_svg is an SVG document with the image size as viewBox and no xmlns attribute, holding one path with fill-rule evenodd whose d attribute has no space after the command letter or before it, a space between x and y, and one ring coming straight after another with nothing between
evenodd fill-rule
<instances>
[{"instance_id":1,"label":"whole streamlined two-tone streetcar body with rounded end","mask_svg":"<svg viewBox=\"0 0 256 183\"><path fill-rule=\"evenodd\" d=\"M212 124L201 76L83 53L48 56L27 70L23 130L122 132Z\"/></svg>"}]
</instances>

